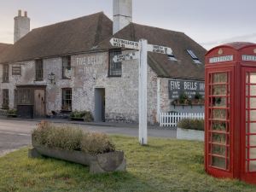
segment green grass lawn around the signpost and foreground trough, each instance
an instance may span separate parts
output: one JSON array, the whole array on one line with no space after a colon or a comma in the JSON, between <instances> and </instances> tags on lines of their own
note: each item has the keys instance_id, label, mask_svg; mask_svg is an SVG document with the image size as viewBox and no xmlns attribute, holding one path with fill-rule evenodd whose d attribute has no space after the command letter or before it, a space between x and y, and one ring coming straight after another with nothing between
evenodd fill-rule
<instances>
[{"instance_id":1,"label":"green grass lawn around the signpost and foreground trough","mask_svg":"<svg viewBox=\"0 0 256 192\"><path fill-rule=\"evenodd\" d=\"M0 191L256 191L253 185L208 176L203 143L149 138L142 147L135 137L119 136L113 136L113 142L125 151L127 172L90 175L87 166L28 159L23 148L0 158Z\"/></svg>"}]
</instances>

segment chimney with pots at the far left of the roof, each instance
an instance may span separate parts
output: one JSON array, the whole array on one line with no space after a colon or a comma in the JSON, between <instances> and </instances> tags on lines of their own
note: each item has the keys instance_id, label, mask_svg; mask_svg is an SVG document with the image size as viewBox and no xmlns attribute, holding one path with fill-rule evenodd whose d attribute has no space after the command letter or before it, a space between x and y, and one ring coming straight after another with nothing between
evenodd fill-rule
<instances>
[{"instance_id":1,"label":"chimney with pots at the far left of the roof","mask_svg":"<svg viewBox=\"0 0 256 192\"><path fill-rule=\"evenodd\" d=\"M21 10L19 10L18 16L15 17L15 43L30 32L30 19L27 17L27 12L24 12L24 16L21 14Z\"/></svg>"}]
</instances>

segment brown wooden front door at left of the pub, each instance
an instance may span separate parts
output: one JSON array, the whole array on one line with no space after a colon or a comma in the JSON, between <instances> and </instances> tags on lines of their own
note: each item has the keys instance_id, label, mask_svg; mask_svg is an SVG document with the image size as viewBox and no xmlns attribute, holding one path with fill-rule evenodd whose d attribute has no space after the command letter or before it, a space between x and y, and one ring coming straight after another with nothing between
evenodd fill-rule
<instances>
[{"instance_id":1,"label":"brown wooden front door at left of the pub","mask_svg":"<svg viewBox=\"0 0 256 192\"><path fill-rule=\"evenodd\" d=\"M35 90L34 115L36 118L44 118L45 116L45 90Z\"/></svg>"}]
</instances>

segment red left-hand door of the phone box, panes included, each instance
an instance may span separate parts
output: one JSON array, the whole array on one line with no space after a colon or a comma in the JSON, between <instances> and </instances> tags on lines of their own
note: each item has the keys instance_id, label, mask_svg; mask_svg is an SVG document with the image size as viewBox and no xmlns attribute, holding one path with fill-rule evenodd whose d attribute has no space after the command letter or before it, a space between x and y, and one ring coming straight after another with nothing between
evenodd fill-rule
<instances>
[{"instance_id":1,"label":"red left-hand door of the phone box, panes included","mask_svg":"<svg viewBox=\"0 0 256 192\"><path fill-rule=\"evenodd\" d=\"M207 69L206 166L215 177L230 177L233 171L233 79L233 67Z\"/></svg>"}]
</instances>

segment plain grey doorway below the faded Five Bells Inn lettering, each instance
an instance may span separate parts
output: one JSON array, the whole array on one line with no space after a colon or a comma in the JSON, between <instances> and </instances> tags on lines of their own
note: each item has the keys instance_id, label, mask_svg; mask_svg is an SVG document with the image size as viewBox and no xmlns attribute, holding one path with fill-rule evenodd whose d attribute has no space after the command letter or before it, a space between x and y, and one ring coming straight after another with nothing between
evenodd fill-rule
<instances>
[{"instance_id":1,"label":"plain grey doorway below the faded Five Bells Inn lettering","mask_svg":"<svg viewBox=\"0 0 256 192\"><path fill-rule=\"evenodd\" d=\"M95 121L105 122L105 89L95 89Z\"/></svg>"}]
</instances>

